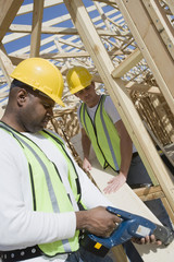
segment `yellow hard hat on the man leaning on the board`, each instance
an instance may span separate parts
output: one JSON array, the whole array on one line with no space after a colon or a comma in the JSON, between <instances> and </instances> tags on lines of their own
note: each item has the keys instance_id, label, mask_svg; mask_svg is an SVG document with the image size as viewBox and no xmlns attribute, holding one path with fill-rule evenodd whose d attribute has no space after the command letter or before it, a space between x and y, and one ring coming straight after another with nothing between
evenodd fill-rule
<instances>
[{"instance_id":1,"label":"yellow hard hat on the man leaning on the board","mask_svg":"<svg viewBox=\"0 0 174 262\"><path fill-rule=\"evenodd\" d=\"M74 67L66 74L66 82L72 94L91 84L92 75L84 67Z\"/></svg>"}]
</instances>

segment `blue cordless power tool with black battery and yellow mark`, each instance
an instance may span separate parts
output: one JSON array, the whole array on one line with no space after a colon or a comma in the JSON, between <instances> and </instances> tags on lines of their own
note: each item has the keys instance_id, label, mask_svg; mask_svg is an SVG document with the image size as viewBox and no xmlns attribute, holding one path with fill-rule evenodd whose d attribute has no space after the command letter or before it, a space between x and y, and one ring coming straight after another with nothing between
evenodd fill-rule
<instances>
[{"instance_id":1,"label":"blue cordless power tool with black battery and yellow mark","mask_svg":"<svg viewBox=\"0 0 174 262\"><path fill-rule=\"evenodd\" d=\"M167 227L157 225L142 216L112 206L108 206L107 211L121 218L121 223L111 236L102 238L92 234L87 234L80 241L80 245L86 250L99 257L104 257L112 247L124 243L132 238L140 239L153 234L156 238L161 240L165 246L171 243L174 239L173 230Z\"/></svg>"}]
</instances>

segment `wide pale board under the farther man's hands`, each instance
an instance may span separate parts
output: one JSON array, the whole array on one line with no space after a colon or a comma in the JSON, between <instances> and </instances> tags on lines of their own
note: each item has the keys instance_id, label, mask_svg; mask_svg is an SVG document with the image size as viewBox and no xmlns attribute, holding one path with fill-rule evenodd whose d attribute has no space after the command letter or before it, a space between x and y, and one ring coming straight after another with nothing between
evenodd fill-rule
<instances>
[{"instance_id":1,"label":"wide pale board under the farther man's hands","mask_svg":"<svg viewBox=\"0 0 174 262\"><path fill-rule=\"evenodd\" d=\"M80 134L71 139L76 152L83 157L83 150L80 145ZM90 171L91 177L96 181L97 186L103 192L109 180L116 175L111 168L103 170L95 157L91 150L90 162L92 169ZM104 194L104 193L103 193ZM151 211L144 204L144 202L137 196L137 194L125 183L119 191L111 194L104 194L116 209L124 210L140 216L144 216L157 224L161 224L158 218L151 213ZM138 253L145 262L173 262L174 261L174 241L167 246L156 245L134 245ZM136 262L136 261L135 261Z\"/></svg>"}]
</instances>

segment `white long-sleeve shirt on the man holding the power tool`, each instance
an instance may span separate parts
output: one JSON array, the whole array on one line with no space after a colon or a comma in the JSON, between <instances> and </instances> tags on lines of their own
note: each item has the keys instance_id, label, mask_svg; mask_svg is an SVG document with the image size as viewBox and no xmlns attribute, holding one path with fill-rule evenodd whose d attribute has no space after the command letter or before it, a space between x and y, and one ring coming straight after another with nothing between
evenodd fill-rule
<instances>
[{"instance_id":1,"label":"white long-sleeve shirt on the man holding the power tool","mask_svg":"<svg viewBox=\"0 0 174 262\"><path fill-rule=\"evenodd\" d=\"M57 146L40 136L25 133L38 144L67 179L67 165ZM67 151L69 152L69 151ZM74 162L87 209L111 204ZM15 250L72 238L76 230L74 212L53 214L33 211L28 164L18 142L0 129L0 250ZM71 189L70 189L71 190ZM95 200L95 201L94 201ZM45 261L44 257L27 261ZM48 259L47 259L48 261ZM51 260L52 261L52 260ZM60 260L54 260L60 261Z\"/></svg>"}]
</instances>

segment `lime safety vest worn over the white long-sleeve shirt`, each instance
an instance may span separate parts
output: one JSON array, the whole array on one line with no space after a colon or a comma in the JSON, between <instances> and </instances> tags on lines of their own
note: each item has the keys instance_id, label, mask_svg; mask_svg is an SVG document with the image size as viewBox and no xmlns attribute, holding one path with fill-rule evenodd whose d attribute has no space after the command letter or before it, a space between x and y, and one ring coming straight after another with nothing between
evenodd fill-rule
<instances>
[{"instance_id":1,"label":"lime safety vest worn over the white long-sleeve shirt","mask_svg":"<svg viewBox=\"0 0 174 262\"><path fill-rule=\"evenodd\" d=\"M46 213L74 212L65 187L62 183L59 170L45 155L40 147L27 136L2 122L0 123L0 128L9 132L14 139L17 140L27 158L34 211ZM69 165L69 182L76 203L78 206L83 206L83 209L85 209L80 202L80 186L78 181L78 175L72 159L64 148L64 143L57 135L46 130L40 131L39 133L54 143L58 150L64 155ZM54 257L59 253L73 252L79 248L78 235L79 231L76 230L75 236L71 239L59 240L51 243L42 243L38 245L38 247L46 255L49 257Z\"/></svg>"}]
</instances>

